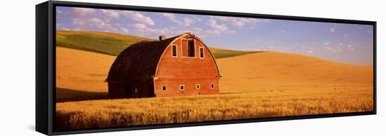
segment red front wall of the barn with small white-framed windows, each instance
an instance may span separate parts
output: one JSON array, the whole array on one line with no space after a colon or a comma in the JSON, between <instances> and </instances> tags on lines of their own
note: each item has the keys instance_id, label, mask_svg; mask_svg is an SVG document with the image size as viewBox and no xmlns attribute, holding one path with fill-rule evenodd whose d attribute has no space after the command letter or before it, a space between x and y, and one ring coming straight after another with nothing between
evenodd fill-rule
<instances>
[{"instance_id":1,"label":"red front wall of the barn with small white-framed windows","mask_svg":"<svg viewBox=\"0 0 386 136\"><path fill-rule=\"evenodd\" d=\"M187 37L182 37L187 38ZM166 48L161 57L155 80L157 97L177 95L209 95L219 93L217 69L208 49L195 39L196 57L182 57L181 40L172 44L177 45L178 57L171 56L171 46ZM199 58L199 47L204 47L204 59ZM200 84L201 88L196 89ZM214 84L215 88L211 88ZM180 90L180 85L185 85L185 90ZM162 90L166 86L167 90Z\"/></svg>"}]
</instances>

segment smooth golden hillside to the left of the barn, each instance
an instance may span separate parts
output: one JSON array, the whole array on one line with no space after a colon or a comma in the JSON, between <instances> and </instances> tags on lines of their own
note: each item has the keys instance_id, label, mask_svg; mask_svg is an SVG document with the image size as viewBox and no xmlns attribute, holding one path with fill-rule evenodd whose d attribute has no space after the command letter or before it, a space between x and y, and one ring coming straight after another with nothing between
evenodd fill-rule
<instances>
[{"instance_id":1,"label":"smooth golden hillside to the left of the barn","mask_svg":"<svg viewBox=\"0 0 386 136\"><path fill-rule=\"evenodd\" d=\"M115 56L70 48L56 48L56 87L107 93L105 79ZM68 97L60 95L57 97ZM76 97L76 95L74 95Z\"/></svg>"}]
</instances>

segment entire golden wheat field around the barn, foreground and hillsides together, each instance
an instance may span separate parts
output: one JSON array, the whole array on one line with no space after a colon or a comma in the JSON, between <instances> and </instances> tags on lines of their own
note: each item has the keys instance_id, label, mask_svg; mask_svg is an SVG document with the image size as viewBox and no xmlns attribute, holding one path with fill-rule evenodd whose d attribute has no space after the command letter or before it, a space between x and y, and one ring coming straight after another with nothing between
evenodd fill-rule
<instances>
[{"instance_id":1,"label":"entire golden wheat field around the barn, foreground and hillsides together","mask_svg":"<svg viewBox=\"0 0 386 136\"><path fill-rule=\"evenodd\" d=\"M219 95L108 100L114 56L56 50L58 130L373 111L370 66L253 53L217 60Z\"/></svg>"}]
</instances>

